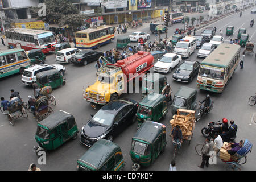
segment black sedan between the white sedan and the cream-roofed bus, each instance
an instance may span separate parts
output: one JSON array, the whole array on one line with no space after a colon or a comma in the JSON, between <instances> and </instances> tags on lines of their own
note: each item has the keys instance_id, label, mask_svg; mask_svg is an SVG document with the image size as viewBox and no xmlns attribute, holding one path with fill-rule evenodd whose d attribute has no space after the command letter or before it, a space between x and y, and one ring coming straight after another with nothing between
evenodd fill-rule
<instances>
[{"instance_id":1,"label":"black sedan between the white sedan and the cream-roofed bus","mask_svg":"<svg viewBox=\"0 0 256 182\"><path fill-rule=\"evenodd\" d=\"M172 78L177 81L191 82L197 76L200 68L199 61L187 60L176 69Z\"/></svg>"}]
</instances>

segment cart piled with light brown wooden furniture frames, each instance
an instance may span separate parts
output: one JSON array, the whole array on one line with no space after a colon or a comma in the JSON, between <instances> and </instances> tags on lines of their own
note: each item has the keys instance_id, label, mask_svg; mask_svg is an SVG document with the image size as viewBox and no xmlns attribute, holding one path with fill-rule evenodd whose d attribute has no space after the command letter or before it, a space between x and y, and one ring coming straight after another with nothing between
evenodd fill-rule
<instances>
[{"instance_id":1,"label":"cart piled with light brown wooden furniture frames","mask_svg":"<svg viewBox=\"0 0 256 182\"><path fill-rule=\"evenodd\" d=\"M170 120L172 126L170 136L172 137L172 129L174 129L176 125L179 125L182 131L183 140L188 140L190 144L193 130L196 126L195 113L195 110L178 109L177 114L175 114L172 117L173 119Z\"/></svg>"}]
</instances>

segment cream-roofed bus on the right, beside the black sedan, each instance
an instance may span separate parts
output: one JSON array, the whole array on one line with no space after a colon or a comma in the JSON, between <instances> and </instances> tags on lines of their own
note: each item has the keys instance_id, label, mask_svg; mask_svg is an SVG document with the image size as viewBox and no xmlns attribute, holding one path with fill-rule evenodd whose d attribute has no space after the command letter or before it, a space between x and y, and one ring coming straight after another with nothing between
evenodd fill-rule
<instances>
[{"instance_id":1,"label":"cream-roofed bus on the right, beside the black sedan","mask_svg":"<svg viewBox=\"0 0 256 182\"><path fill-rule=\"evenodd\" d=\"M238 66L240 50L236 44L220 44L202 61L197 88L222 93Z\"/></svg>"}]
</instances>

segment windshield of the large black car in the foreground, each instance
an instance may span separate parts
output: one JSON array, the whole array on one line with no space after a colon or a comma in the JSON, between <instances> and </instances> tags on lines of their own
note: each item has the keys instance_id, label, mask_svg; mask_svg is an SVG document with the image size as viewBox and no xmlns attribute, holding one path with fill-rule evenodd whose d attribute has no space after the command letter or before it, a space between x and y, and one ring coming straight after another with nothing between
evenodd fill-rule
<instances>
[{"instance_id":1,"label":"windshield of the large black car in the foreground","mask_svg":"<svg viewBox=\"0 0 256 182\"><path fill-rule=\"evenodd\" d=\"M93 122L99 123L100 125L110 126L112 125L114 114L109 113L103 109L100 109L92 118Z\"/></svg>"}]
</instances>

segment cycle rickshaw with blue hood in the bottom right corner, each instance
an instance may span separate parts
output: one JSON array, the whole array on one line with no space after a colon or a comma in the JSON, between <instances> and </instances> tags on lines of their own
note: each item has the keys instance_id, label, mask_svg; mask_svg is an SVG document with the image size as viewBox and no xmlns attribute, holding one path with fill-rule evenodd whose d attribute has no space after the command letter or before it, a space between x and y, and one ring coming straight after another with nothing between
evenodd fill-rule
<instances>
[{"instance_id":1,"label":"cycle rickshaw with blue hood in the bottom right corner","mask_svg":"<svg viewBox=\"0 0 256 182\"><path fill-rule=\"evenodd\" d=\"M246 163L246 155L251 152L252 147L253 144L248 139L245 139L243 147L232 155L230 160L221 159L225 163L225 169L227 171L241 171L241 164ZM242 163L241 160L243 160Z\"/></svg>"}]
</instances>

